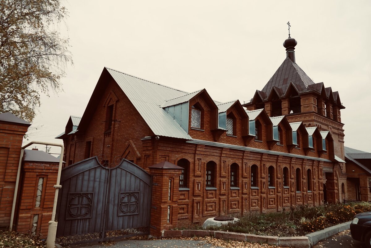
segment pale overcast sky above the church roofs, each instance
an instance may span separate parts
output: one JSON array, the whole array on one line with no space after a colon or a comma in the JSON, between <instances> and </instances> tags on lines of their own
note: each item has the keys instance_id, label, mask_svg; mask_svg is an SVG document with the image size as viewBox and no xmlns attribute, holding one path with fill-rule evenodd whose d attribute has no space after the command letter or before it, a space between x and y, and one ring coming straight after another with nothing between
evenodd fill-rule
<instances>
[{"instance_id":1,"label":"pale overcast sky above the church roofs","mask_svg":"<svg viewBox=\"0 0 371 248\"><path fill-rule=\"evenodd\" d=\"M301 2L301 3L300 3ZM296 63L339 91L345 146L371 152L371 1L63 1L74 65L42 97L29 140L55 139L82 116L104 66L169 87L248 101L298 45ZM24 141L26 144L28 141ZM39 146L39 149L45 149ZM53 149L59 152L59 149Z\"/></svg>"}]
</instances>

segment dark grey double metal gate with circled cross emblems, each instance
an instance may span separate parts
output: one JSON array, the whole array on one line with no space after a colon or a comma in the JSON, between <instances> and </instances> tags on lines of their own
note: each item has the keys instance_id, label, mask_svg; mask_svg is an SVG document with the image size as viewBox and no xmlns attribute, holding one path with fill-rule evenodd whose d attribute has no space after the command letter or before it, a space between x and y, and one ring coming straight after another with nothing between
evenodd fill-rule
<instances>
[{"instance_id":1,"label":"dark grey double metal gate with circled cross emblems","mask_svg":"<svg viewBox=\"0 0 371 248\"><path fill-rule=\"evenodd\" d=\"M76 244L149 234L151 175L128 160L97 157L62 169L56 242Z\"/></svg>"}]
</instances>

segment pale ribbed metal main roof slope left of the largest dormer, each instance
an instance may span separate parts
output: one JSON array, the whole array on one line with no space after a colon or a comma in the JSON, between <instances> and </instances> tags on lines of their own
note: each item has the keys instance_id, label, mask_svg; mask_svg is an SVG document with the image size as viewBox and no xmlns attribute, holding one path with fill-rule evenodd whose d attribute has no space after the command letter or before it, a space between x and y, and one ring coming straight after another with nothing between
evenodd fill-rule
<instances>
[{"instance_id":1,"label":"pale ribbed metal main roof slope left of the largest dormer","mask_svg":"<svg viewBox=\"0 0 371 248\"><path fill-rule=\"evenodd\" d=\"M161 107L165 100L184 96L188 92L106 69L155 135L192 139Z\"/></svg>"}]
</instances>

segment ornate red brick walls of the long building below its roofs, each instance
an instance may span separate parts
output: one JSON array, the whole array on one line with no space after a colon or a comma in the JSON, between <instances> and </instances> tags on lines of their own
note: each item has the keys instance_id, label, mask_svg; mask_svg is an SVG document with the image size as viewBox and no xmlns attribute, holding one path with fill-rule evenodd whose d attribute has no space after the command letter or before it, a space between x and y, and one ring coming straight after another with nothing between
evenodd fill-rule
<instances>
[{"instance_id":1,"label":"ornate red brick walls of the long building below its roofs","mask_svg":"<svg viewBox=\"0 0 371 248\"><path fill-rule=\"evenodd\" d=\"M112 98L112 95L115 97ZM109 160L109 163L114 163L116 158L126 158L147 171L149 171L148 166L161 161L177 164L180 159L187 159L190 163L188 187L178 191L177 206L174 205L172 212L174 215L172 219L175 218L176 221L173 221L171 226L202 223L206 218L216 215L241 215L250 211L276 212L282 211L283 208L289 208L290 205L309 204L315 206L322 204L324 200L323 183L326 178L323 177L323 167L334 167L332 162L187 143L185 140L175 138L160 137L157 140L129 99L112 80L107 82L107 88L102 97L95 100L99 104L95 112L92 113L86 130L80 130L76 133L73 140L71 136L64 140L65 161L72 160L73 163L76 163L84 159L87 141L91 141L91 156L103 154L105 157L103 160ZM213 117L213 106L207 102L203 95L198 95L190 100L190 106L196 104L203 112L201 130L191 128L190 124L188 130L194 139L215 142L216 138L213 135L211 123L213 122L212 118L217 117ZM114 105L113 119L115 121L112 123L111 131L105 133L107 105ZM227 136L224 132L217 138L217 142L244 147L245 141L241 130L246 127L242 126L241 116L233 108L228 113L232 112L236 117L236 134ZM280 125L282 145L268 146L267 134L272 132L272 127L263 115L265 115L264 112L256 119L262 124L262 140L251 139L246 146L289 153L289 148L286 145L287 131L283 125ZM189 118L191 118L191 111ZM300 137L300 140L302 142L303 138ZM291 152L301 156L329 159L328 153L320 154L316 150L306 154L302 143L300 147ZM206 164L210 161L216 164L214 189L206 189ZM238 187L235 188L230 187L230 166L233 163L238 166ZM258 167L256 187L250 185L250 169L253 164ZM268 170L270 166L273 167L274 183L269 187ZM285 187L283 187L284 167L287 167L289 171L288 186ZM296 169L299 169L298 177ZM308 169L310 169L312 177L309 180L307 178ZM331 180L339 180L339 178ZM308 189L308 181L311 183L311 190ZM336 183L337 186L335 187L334 184L334 187L331 188L332 191L329 193L331 197L328 196L328 199L339 199L338 181ZM296 185L300 185L298 192ZM153 192L157 194L160 191L154 186ZM158 196L154 200L166 198L167 191L162 190L162 192L166 192L166 195ZM167 219L167 209L165 211L164 208L170 203L165 201L154 204L157 204L159 209L152 210L152 213L154 216L160 215L161 217L158 220L159 223L151 223L151 225L160 226L160 228L170 227L164 222ZM177 213L176 217L175 213Z\"/></svg>"}]
</instances>

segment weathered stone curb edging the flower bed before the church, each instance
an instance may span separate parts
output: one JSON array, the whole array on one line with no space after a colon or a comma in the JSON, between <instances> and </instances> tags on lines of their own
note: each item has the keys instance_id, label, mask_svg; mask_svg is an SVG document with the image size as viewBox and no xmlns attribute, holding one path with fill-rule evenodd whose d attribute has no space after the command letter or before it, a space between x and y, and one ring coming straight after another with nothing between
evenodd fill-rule
<instances>
[{"instance_id":1,"label":"weathered stone curb edging the flower bed before the church","mask_svg":"<svg viewBox=\"0 0 371 248\"><path fill-rule=\"evenodd\" d=\"M312 232L305 236L296 237L278 237L268 235L242 234L239 232L226 231L208 231L208 230L164 230L162 237L164 238L180 238L180 237L206 237L211 236L220 239L230 239L238 241L248 241L252 243L266 243L269 245L277 245L280 247L292 248L311 248L319 241L335 235L339 232L349 229L349 222L345 222L336 226L323 229L321 231Z\"/></svg>"}]
</instances>

